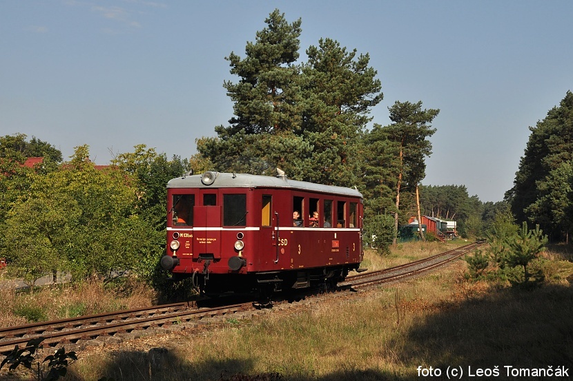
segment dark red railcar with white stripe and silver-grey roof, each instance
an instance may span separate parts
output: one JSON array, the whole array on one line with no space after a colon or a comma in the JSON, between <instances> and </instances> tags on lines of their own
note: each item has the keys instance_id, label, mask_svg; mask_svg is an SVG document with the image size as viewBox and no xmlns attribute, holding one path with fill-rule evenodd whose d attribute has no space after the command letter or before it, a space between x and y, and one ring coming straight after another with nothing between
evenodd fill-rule
<instances>
[{"instance_id":1,"label":"dark red railcar with white stripe and silver-grey roof","mask_svg":"<svg viewBox=\"0 0 573 381\"><path fill-rule=\"evenodd\" d=\"M162 267L175 279L193 278L201 291L336 285L360 267L363 206L355 189L205 172L173 178L167 194Z\"/></svg>"}]
</instances>

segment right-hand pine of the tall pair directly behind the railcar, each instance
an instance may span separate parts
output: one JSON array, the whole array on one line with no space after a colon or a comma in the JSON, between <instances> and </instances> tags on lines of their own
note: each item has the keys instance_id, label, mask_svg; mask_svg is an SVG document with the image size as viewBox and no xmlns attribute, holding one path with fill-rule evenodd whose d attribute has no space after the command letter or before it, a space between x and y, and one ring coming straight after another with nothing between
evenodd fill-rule
<instances>
[{"instance_id":1,"label":"right-hand pine of the tall pair directly behind the railcar","mask_svg":"<svg viewBox=\"0 0 573 381\"><path fill-rule=\"evenodd\" d=\"M320 39L302 65L302 136L313 147L307 180L331 185L356 184L360 140L371 107L382 101L382 85L369 55L356 56L338 41Z\"/></svg>"}]
</instances>

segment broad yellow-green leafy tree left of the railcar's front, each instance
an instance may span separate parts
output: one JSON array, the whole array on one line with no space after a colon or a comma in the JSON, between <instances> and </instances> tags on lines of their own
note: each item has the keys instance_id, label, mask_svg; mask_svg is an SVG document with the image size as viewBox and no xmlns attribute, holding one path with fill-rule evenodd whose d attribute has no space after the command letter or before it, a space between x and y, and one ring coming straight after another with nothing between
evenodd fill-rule
<instances>
[{"instance_id":1,"label":"broad yellow-green leafy tree left of the railcar's front","mask_svg":"<svg viewBox=\"0 0 573 381\"><path fill-rule=\"evenodd\" d=\"M74 279L109 278L137 269L153 253L153 231L137 215L130 178L115 167L95 169L84 145L19 196L8 214L2 247L12 260L10 268L22 276L62 269Z\"/></svg>"}]
</instances>

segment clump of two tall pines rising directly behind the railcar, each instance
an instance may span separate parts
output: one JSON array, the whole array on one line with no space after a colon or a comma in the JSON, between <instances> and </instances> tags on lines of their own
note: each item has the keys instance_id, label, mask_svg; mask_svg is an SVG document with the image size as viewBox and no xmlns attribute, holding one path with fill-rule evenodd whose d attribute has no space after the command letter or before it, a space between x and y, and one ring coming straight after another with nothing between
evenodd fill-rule
<instances>
[{"instance_id":1,"label":"clump of two tall pines rising directly behind the railcar","mask_svg":"<svg viewBox=\"0 0 573 381\"><path fill-rule=\"evenodd\" d=\"M231 53L238 83L224 87L234 102L228 127L197 140L197 150L220 171L271 174L329 185L354 185L367 114L382 99L368 54L356 56L321 39L296 65L300 19L291 24L275 10L267 27L247 43L246 57Z\"/></svg>"}]
</instances>

